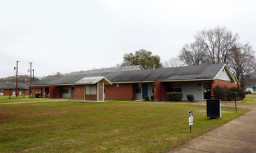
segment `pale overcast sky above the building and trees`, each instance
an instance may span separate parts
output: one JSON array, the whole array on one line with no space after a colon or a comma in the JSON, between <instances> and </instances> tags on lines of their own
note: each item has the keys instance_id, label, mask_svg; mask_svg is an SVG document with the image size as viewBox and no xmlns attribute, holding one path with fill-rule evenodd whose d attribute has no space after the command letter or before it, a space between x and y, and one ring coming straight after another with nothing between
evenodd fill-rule
<instances>
[{"instance_id":1,"label":"pale overcast sky above the building and trees","mask_svg":"<svg viewBox=\"0 0 256 153\"><path fill-rule=\"evenodd\" d=\"M256 48L255 1L0 0L0 77L112 67L146 49L177 56L197 31L225 26Z\"/></svg>"}]
</instances>

